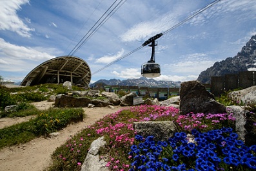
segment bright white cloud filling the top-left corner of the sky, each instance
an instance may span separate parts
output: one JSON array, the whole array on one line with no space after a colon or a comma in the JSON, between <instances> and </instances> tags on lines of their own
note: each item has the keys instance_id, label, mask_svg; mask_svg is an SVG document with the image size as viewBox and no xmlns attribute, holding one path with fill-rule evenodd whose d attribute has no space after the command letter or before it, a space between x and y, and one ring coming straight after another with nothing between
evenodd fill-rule
<instances>
[{"instance_id":1,"label":"bright white cloud filling the top-left corner of the sky","mask_svg":"<svg viewBox=\"0 0 256 171\"><path fill-rule=\"evenodd\" d=\"M30 31L34 28L29 28L17 15L17 10L21 10L21 5L29 3L29 0L5 0L1 1L0 5L0 30L14 31L22 37L30 37ZM29 21L26 19L26 21Z\"/></svg>"}]
</instances>

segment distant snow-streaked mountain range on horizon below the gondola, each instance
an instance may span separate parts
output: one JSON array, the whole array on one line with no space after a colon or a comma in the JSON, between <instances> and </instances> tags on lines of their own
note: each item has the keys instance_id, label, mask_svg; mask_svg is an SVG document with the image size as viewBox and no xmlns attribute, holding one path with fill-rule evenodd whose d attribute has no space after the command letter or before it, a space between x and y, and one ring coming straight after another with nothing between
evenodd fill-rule
<instances>
[{"instance_id":1,"label":"distant snow-streaked mountain range on horizon below the gondola","mask_svg":"<svg viewBox=\"0 0 256 171\"><path fill-rule=\"evenodd\" d=\"M153 78L141 77L138 79L127 79L127 80L98 80L94 82L94 84L90 84L90 87L104 85L124 85L124 86L139 86L139 87L180 87L181 82L173 82L173 81L157 81Z\"/></svg>"}]
</instances>

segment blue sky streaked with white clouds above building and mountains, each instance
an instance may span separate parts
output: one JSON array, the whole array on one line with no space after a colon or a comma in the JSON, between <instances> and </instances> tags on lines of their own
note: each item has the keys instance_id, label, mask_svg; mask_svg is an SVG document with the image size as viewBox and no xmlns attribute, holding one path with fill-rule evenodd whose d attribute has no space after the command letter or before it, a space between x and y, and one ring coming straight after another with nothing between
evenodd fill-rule
<instances>
[{"instance_id":1,"label":"blue sky streaked with white clouds above building and mountains","mask_svg":"<svg viewBox=\"0 0 256 171\"><path fill-rule=\"evenodd\" d=\"M1 0L0 75L19 82L44 61L68 55L113 2ZM94 73L212 2L127 0L74 56ZM234 57L256 34L255 13L255 0L222 0L164 34L155 49L161 76L154 79L196 80L215 62ZM92 75L92 82L141 77L141 64L150 60L151 51L144 46Z\"/></svg>"}]
</instances>

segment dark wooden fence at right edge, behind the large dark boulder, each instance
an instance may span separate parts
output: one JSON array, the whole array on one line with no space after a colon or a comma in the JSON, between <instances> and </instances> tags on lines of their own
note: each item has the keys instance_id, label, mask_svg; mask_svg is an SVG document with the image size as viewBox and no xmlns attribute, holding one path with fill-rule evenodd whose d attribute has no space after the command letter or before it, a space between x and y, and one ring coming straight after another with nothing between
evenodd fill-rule
<instances>
[{"instance_id":1,"label":"dark wooden fence at right edge, behind the large dark boulder","mask_svg":"<svg viewBox=\"0 0 256 171\"><path fill-rule=\"evenodd\" d=\"M255 71L242 71L239 74L226 74L224 76L211 77L211 92L215 96L221 96L224 91L237 88L248 88L255 85Z\"/></svg>"}]
</instances>

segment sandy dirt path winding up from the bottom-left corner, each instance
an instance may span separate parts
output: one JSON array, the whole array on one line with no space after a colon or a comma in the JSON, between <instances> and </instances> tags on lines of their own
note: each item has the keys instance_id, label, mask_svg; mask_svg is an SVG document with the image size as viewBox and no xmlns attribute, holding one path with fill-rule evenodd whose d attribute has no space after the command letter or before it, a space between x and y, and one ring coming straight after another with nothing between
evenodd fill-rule
<instances>
[{"instance_id":1,"label":"sandy dirt path winding up from the bottom-left corner","mask_svg":"<svg viewBox=\"0 0 256 171\"><path fill-rule=\"evenodd\" d=\"M35 104L39 109L46 109L49 107L48 105L46 102ZM124 108L120 106L115 106L114 109L108 107L84 108L87 117L84 118L83 122L68 125L68 127L59 131L58 136L36 138L23 145L2 149L0 151L0 170L44 170L51 163L52 152L63 145L68 138L82 131L86 126L92 125L106 114L115 113ZM18 121L14 119L12 122Z\"/></svg>"}]
</instances>

